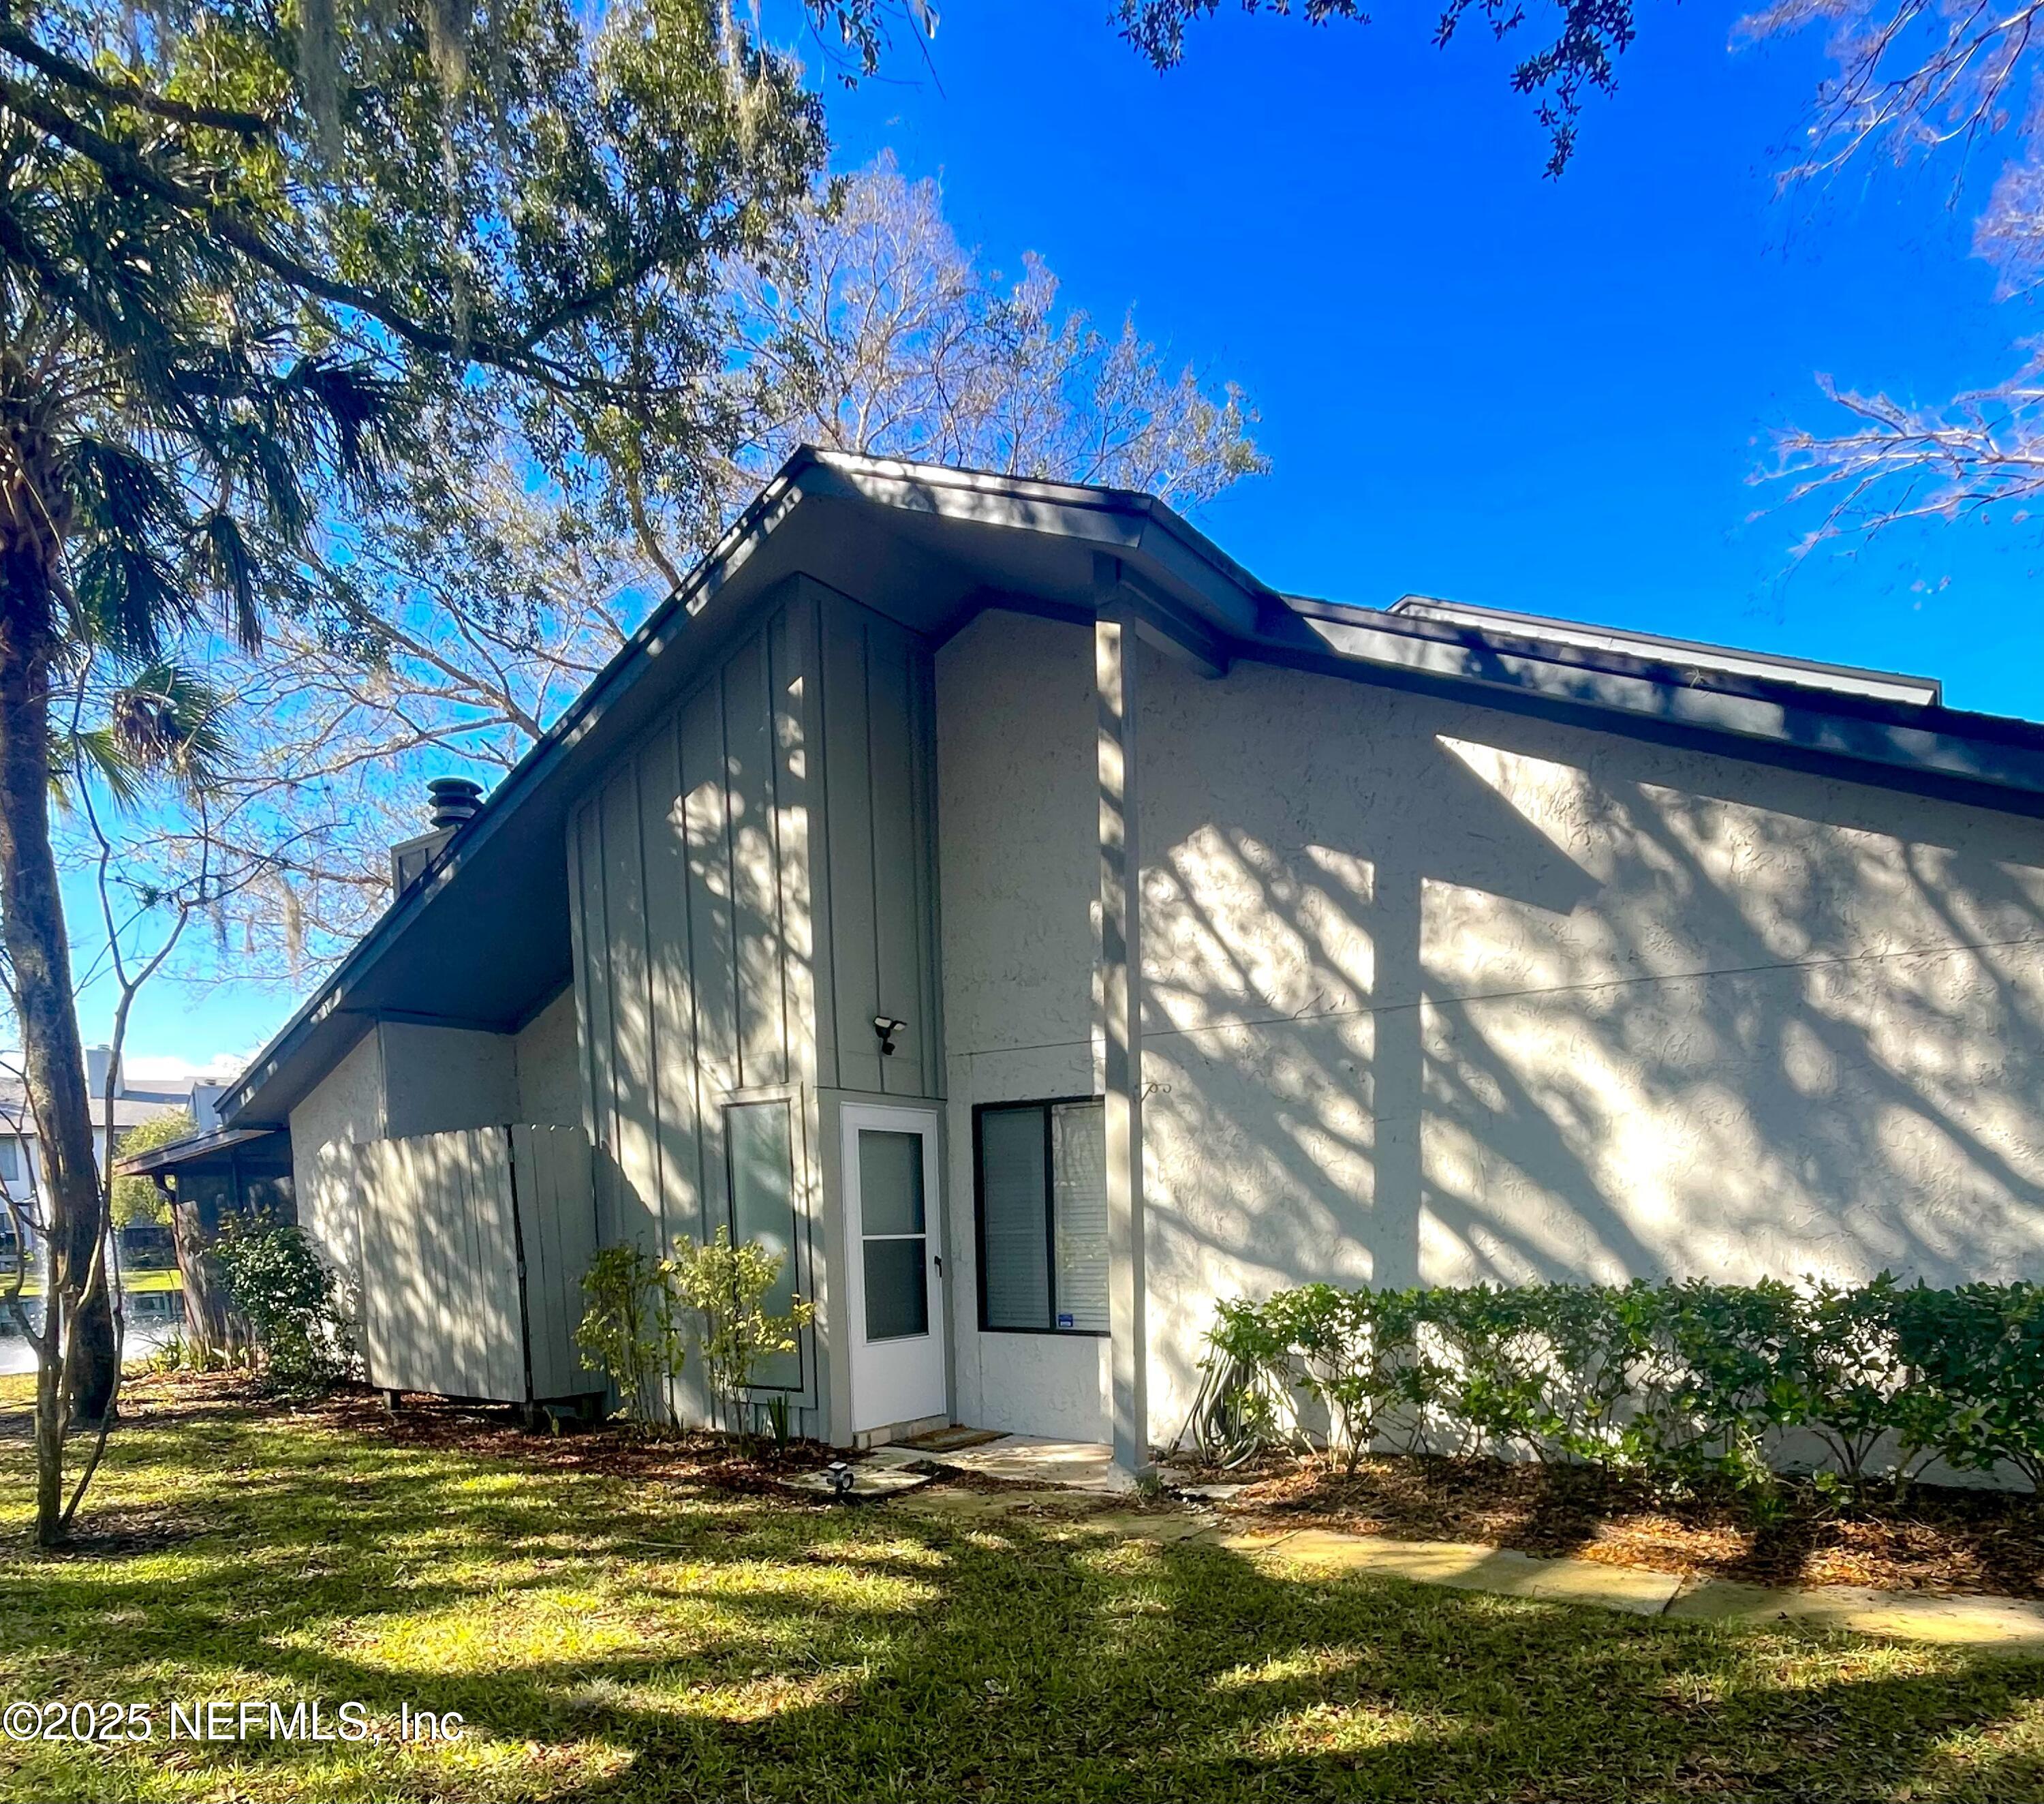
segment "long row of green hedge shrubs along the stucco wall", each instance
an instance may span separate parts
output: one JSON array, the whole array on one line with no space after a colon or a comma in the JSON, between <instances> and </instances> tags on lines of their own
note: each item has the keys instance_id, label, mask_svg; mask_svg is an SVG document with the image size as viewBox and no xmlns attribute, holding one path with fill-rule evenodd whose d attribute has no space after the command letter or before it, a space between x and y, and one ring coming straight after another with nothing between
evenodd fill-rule
<instances>
[{"instance_id":1,"label":"long row of green hedge shrubs along the stucco wall","mask_svg":"<svg viewBox=\"0 0 2044 1804\"><path fill-rule=\"evenodd\" d=\"M1772 1481L1786 1436L1860 1487L2013 1467L2044 1491L2044 1284L1517 1284L1220 1305L1194 1438Z\"/></svg>"}]
</instances>

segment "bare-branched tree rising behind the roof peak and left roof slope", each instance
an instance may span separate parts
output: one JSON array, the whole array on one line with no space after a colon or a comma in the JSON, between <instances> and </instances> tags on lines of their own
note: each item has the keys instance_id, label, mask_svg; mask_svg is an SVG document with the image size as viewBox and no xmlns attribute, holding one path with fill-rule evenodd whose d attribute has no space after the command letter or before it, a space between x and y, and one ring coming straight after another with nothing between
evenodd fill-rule
<instances>
[{"instance_id":1,"label":"bare-branched tree rising behind the roof peak and left roof slope","mask_svg":"<svg viewBox=\"0 0 2044 1804\"><path fill-rule=\"evenodd\" d=\"M1036 258L1006 282L959 245L936 184L891 160L820 182L791 225L771 272L724 268L719 407L740 430L705 489L715 505L648 513L658 565L638 530L593 530L478 438L358 546L347 634L282 620L264 657L233 661L235 714L260 734L208 830L237 865L288 845L237 898L237 976L303 982L343 951L388 900L388 845L423 826L423 779L509 771L666 593L664 571L799 444L1181 507L1265 468L1235 385L1173 368L1132 319L1096 329Z\"/></svg>"}]
</instances>

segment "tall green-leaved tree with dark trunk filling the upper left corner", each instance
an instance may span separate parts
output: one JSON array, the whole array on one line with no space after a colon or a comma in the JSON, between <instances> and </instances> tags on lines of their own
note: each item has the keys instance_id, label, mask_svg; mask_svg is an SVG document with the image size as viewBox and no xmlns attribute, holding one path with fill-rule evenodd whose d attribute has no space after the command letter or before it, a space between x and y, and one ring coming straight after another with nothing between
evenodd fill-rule
<instances>
[{"instance_id":1,"label":"tall green-leaved tree with dark trunk filling the upper left corner","mask_svg":"<svg viewBox=\"0 0 2044 1804\"><path fill-rule=\"evenodd\" d=\"M875 31L873 0L807 12ZM119 1381L53 693L202 620L345 634L350 548L448 421L515 438L601 530L685 509L724 434L717 272L822 149L795 63L719 0L587 27L566 0L0 0L0 945L69 1321L45 1542L57 1411L104 1424Z\"/></svg>"}]
</instances>

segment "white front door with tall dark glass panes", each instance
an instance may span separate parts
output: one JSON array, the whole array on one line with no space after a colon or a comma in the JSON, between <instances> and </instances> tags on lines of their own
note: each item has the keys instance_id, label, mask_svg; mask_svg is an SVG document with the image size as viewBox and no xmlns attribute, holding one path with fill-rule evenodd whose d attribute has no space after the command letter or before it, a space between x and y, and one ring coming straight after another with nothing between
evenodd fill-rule
<instances>
[{"instance_id":1,"label":"white front door with tall dark glass panes","mask_svg":"<svg viewBox=\"0 0 2044 1804\"><path fill-rule=\"evenodd\" d=\"M844 1107L846 1301L852 1432L942 1415L936 1117Z\"/></svg>"}]
</instances>

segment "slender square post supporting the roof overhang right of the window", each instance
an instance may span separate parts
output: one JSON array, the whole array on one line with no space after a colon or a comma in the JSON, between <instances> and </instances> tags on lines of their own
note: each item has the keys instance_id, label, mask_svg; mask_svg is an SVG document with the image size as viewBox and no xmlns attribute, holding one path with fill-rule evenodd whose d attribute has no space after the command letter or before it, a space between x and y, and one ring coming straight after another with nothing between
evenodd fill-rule
<instances>
[{"instance_id":1,"label":"slender square post supporting the roof overhang right of the window","mask_svg":"<svg viewBox=\"0 0 2044 1804\"><path fill-rule=\"evenodd\" d=\"M1116 558L1096 558L1094 691L1100 757L1100 998L1108 1117L1108 1325L1114 1462L1149 1469L1143 1272L1143 888L1136 849L1134 634L1114 610Z\"/></svg>"}]
</instances>

